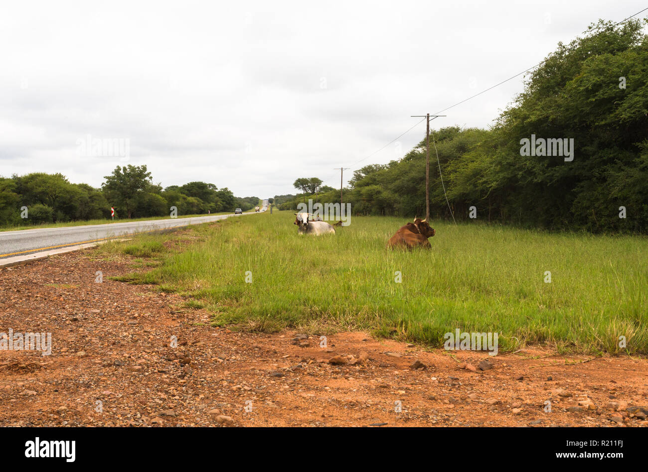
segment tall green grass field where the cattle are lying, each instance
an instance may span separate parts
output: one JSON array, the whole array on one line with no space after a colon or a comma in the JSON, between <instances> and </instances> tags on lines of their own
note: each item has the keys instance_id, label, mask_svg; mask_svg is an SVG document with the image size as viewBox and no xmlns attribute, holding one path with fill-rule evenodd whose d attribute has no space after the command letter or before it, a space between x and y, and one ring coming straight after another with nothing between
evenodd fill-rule
<instances>
[{"instance_id":1,"label":"tall green grass field where the cattle are lying","mask_svg":"<svg viewBox=\"0 0 648 472\"><path fill-rule=\"evenodd\" d=\"M433 222L432 250L409 252L385 247L402 218L354 217L320 237L298 236L293 221L292 212L227 219L137 279L250 330L370 329L441 346L459 328L500 333L500 350L648 354L646 238Z\"/></svg>"}]
</instances>

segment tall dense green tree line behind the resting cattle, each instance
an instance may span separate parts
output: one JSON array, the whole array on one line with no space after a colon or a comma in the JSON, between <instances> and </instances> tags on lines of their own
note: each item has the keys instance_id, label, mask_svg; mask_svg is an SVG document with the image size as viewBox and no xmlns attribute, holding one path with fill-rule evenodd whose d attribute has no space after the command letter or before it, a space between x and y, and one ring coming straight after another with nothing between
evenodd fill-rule
<instances>
[{"instance_id":1,"label":"tall dense green tree line behind the resting cattle","mask_svg":"<svg viewBox=\"0 0 648 472\"><path fill-rule=\"evenodd\" d=\"M452 210L457 220L647 232L645 23L612 27L601 20L583 38L559 43L490 128L433 131L432 218L451 219ZM402 159L356 170L344 192L353 214L424 214L425 144L423 138ZM318 199L339 202L339 192L319 193ZM280 208L296 208L305 195L283 199Z\"/></svg>"}]
</instances>

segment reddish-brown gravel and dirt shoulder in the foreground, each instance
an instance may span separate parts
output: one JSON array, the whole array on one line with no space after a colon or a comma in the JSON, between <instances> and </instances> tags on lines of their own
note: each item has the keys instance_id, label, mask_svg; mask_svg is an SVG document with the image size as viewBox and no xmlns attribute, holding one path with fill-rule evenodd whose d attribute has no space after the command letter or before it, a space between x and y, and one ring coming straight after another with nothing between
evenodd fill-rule
<instances>
[{"instance_id":1,"label":"reddish-brown gravel and dirt shoulder in the foreground","mask_svg":"<svg viewBox=\"0 0 648 472\"><path fill-rule=\"evenodd\" d=\"M0 332L52 336L51 355L0 350L0 425L648 425L643 358L233 332L179 295L108 280L130 258L93 251L0 270Z\"/></svg>"}]
</instances>

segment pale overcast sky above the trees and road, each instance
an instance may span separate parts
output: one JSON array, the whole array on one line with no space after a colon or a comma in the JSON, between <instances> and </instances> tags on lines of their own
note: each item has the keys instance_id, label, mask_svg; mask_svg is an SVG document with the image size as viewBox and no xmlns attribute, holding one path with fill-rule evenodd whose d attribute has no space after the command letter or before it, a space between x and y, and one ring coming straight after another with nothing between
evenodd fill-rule
<instances>
[{"instance_id":1,"label":"pale overcast sky above the trees and road","mask_svg":"<svg viewBox=\"0 0 648 472\"><path fill-rule=\"evenodd\" d=\"M424 137L420 124L358 163L413 126L410 115L531 67L599 17L620 21L642 8L602 0L5 2L0 175L61 172L100 186L117 165L146 164L163 186L200 180L237 196L295 193L297 177L339 187L333 168L388 163ZM434 128L487 127L520 91L522 77L448 110ZM100 139L120 139L128 155L84 147Z\"/></svg>"}]
</instances>

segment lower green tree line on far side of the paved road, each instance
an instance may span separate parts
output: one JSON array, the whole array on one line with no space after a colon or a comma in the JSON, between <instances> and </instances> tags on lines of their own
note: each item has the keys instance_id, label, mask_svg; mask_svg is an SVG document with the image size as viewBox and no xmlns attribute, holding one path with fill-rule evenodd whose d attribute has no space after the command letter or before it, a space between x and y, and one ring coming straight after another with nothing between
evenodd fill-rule
<instances>
[{"instance_id":1,"label":"lower green tree line on far side of the paved road","mask_svg":"<svg viewBox=\"0 0 648 472\"><path fill-rule=\"evenodd\" d=\"M95 188L70 183L63 174L0 176L0 226L111 218L111 207L115 218L148 218L169 216L171 207L189 215L247 211L259 203L259 197L235 197L227 187L200 181L162 188L146 165L117 166L104 179Z\"/></svg>"}]
</instances>

